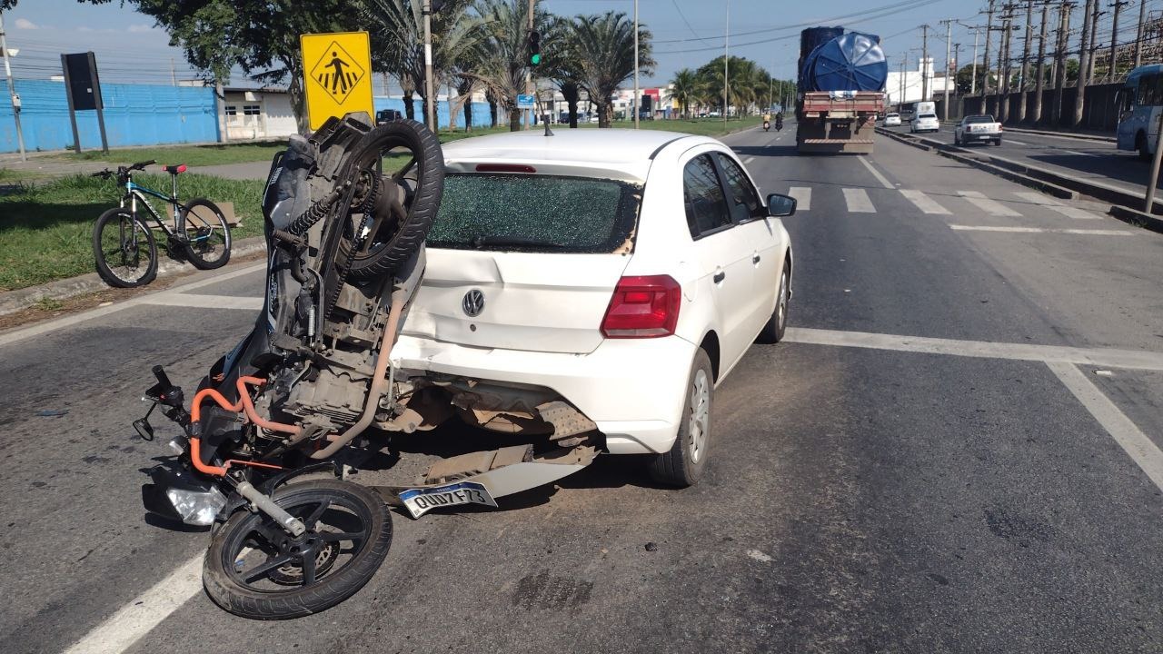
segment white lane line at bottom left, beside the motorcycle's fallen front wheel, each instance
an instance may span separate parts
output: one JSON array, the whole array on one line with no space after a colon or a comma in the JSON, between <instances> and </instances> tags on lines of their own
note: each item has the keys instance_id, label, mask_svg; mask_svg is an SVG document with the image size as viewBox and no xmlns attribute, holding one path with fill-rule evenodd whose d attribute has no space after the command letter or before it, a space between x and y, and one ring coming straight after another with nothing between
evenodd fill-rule
<instances>
[{"instance_id":1,"label":"white lane line at bottom left, beside the motorcycle's fallen front wheel","mask_svg":"<svg viewBox=\"0 0 1163 654\"><path fill-rule=\"evenodd\" d=\"M124 652L201 590L202 555L199 554L122 606L64 654Z\"/></svg>"}]
</instances>

